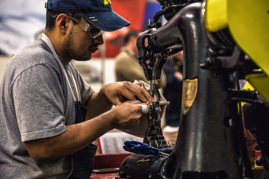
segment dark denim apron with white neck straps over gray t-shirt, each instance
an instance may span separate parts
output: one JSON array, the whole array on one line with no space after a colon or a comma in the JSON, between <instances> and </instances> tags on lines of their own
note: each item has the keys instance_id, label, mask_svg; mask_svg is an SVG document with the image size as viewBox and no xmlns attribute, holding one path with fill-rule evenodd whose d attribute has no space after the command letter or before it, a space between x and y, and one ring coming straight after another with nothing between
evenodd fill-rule
<instances>
[{"instance_id":1,"label":"dark denim apron with white neck straps over gray t-shirt","mask_svg":"<svg viewBox=\"0 0 269 179\"><path fill-rule=\"evenodd\" d=\"M47 43L47 45L48 45L49 49L51 50L51 52L53 53L54 57L58 60L58 63L60 64L60 66L63 70L63 73L65 74L66 81L68 82L68 85L72 91L73 98L75 101L75 114L76 114L75 124L85 121L87 108L84 107L84 105L82 103L80 103L80 93L78 92L76 80L75 80L72 72L70 72L70 76L71 76L72 81L73 81L74 86L75 86L75 93L77 96L77 100L76 100L75 94L73 93L73 87L71 86L71 84L69 82L69 78L68 78L68 75L65 71L65 68L63 67L62 62L60 61L58 55L56 54L55 49L54 49L51 41L44 33L42 33L41 39L45 43ZM72 169L71 169L71 173L66 178L86 178L86 179L90 178L91 173L93 171L93 161L94 161L96 149L97 149L96 145L90 144L87 147L85 147L84 149L76 152L75 154L72 154L71 155Z\"/></svg>"}]
</instances>

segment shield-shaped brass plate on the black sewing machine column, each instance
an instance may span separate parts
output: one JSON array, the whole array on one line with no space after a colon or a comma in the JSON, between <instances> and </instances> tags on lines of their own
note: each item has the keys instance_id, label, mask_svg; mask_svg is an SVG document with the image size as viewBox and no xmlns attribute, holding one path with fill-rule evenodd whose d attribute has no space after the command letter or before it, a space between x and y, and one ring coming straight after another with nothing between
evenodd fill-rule
<instances>
[{"instance_id":1,"label":"shield-shaped brass plate on the black sewing machine column","mask_svg":"<svg viewBox=\"0 0 269 179\"><path fill-rule=\"evenodd\" d=\"M198 79L186 79L183 81L182 89L182 111L183 114L192 107L198 91Z\"/></svg>"}]
</instances>

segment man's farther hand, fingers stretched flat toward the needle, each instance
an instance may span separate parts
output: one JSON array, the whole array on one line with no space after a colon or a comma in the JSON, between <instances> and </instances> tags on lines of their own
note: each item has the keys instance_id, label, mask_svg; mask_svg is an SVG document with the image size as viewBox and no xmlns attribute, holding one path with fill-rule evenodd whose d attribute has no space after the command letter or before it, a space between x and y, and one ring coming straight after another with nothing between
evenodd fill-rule
<instances>
[{"instance_id":1,"label":"man's farther hand, fingers stretched flat toward the needle","mask_svg":"<svg viewBox=\"0 0 269 179\"><path fill-rule=\"evenodd\" d=\"M143 103L151 102L150 95L143 87L127 81L109 83L102 87L100 92L104 93L108 101L115 106L121 104L124 97L130 101L137 100L138 98Z\"/></svg>"}]
</instances>

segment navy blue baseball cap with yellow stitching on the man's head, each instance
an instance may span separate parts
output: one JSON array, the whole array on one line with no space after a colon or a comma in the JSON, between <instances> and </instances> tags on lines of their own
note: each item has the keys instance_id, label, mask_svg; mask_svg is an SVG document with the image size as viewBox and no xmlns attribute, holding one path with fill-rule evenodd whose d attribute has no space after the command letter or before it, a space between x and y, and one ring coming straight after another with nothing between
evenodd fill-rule
<instances>
[{"instance_id":1,"label":"navy blue baseball cap with yellow stitching on the man's head","mask_svg":"<svg viewBox=\"0 0 269 179\"><path fill-rule=\"evenodd\" d=\"M46 9L81 13L103 31L115 31L131 23L112 10L111 0L48 0Z\"/></svg>"}]
</instances>

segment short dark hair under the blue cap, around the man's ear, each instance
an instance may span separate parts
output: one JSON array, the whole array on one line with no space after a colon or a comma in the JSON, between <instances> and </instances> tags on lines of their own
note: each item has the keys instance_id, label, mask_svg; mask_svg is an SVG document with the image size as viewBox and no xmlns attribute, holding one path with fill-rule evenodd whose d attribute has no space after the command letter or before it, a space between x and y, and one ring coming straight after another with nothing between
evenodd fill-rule
<instances>
[{"instance_id":1,"label":"short dark hair under the blue cap, around the man's ear","mask_svg":"<svg viewBox=\"0 0 269 179\"><path fill-rule=\"evenodd\" d=\"M48 28L48 30L52 30L54 28L54 25L55 25L55 22L56 22L56 17L51 17L51 16L54 16L54 15L59 15L59 14L67 14L68 16L72 16L72 17L75 17L76 19L79 19L81 20L82 18L82 15L80 13L71 13L71 12L62 12L62 11L56 11L56 10L51 10L51 9L47 9L46 11L46 29ZM74 21L73 21L73 24L76 24Z\"/></svg>"}]
</instances>

